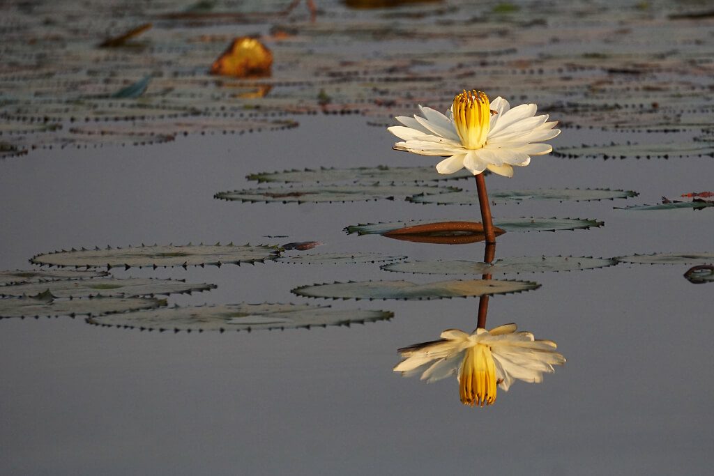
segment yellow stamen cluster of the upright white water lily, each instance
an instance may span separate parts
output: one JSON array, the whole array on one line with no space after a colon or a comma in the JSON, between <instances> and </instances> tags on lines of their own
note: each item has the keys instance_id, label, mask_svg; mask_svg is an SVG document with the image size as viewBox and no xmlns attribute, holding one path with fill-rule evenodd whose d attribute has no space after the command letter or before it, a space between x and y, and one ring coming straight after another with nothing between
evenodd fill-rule
<instances>
[{"instance_id":1,"label":"yellow stamen cluster of the upright white water lily","mask_svg":"<svg viewBox=\"0 0 714 476\"><path fill-rule=\"evenodd\" d=\"M483 91L463 91L453 98L456 133L466 148L482 148L491 126L491 102Z\"/></svg>"}]
</instances>

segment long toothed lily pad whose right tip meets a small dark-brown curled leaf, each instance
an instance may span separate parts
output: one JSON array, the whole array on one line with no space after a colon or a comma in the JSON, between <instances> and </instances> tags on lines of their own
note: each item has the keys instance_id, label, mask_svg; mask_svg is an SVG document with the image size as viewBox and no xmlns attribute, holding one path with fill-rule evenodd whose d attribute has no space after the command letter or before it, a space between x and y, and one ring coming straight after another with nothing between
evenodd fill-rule
<instances>
[{"instance_id":1,"label":"long toothed lily pad whose right tip meets a small dark-brown curled leaf","mask_svg":"<svg viewBox=\"0 0 714 476\"><path fill-rule=\"evenodd\" d=\"M271 245L153 245L127 248L55 251L34 256L31 263L76 268L143 268L262 263L276 258L278 248Z\"/></svg>"}]
</instances>

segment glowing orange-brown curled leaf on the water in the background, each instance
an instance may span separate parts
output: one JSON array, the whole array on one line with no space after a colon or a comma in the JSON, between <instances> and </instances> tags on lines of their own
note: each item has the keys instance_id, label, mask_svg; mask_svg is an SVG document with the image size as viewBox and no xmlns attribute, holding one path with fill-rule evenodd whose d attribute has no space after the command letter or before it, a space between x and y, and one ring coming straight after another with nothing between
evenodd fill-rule
<instances>
[{"instance_id":1,"label":"glowing orange-brown curled leaf on the water in the background","mask_svg":"<svg viewBox=\"0 0 714 476\"><path fill-rule=\"evenodd\" d=\"M271 75L273 54L258 39L240 36L213 61L211 74L258 78Z\"/></svg>"}]
</instances>

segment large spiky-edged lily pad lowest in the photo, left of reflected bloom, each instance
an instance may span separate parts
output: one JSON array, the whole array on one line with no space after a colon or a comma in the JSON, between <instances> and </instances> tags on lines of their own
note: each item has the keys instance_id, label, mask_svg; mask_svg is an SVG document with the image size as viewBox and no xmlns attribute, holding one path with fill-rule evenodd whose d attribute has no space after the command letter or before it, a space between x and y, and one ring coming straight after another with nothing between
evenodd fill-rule
<instances>
[{"instance_id":1,"label":"large spiky-edged lily pad lowest in the photo, left of reflected bloom","mask_svg":"<svg viewBox=\"0 0 714 476\"><path fill-rule=\"evenodd\" d=\"M222 304L162 308L136 313L103 315L87 322L96 325L157 330L271 330L351 325L387 320L385 310L347 309L307 304Z\"/></svg>"}]
</instances>

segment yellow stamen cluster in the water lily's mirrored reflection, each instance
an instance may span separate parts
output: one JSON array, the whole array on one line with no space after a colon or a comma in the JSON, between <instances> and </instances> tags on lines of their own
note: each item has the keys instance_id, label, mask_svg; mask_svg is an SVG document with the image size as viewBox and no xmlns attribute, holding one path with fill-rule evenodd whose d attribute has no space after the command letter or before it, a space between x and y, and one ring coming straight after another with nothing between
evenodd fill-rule
<instances>
[{"instance_id":1,"label":"yellow stamen cluster in the water lily's mirrored reflection","mask_svg":"<svg viewBox=\"0 0 714 476\"><path fill-rule=\"evenodd\" d=\"M496 401L496 364L488 345L466 350L459 376L459 393L464 405L491 405Z\"/></svg>"}]
</instances>

